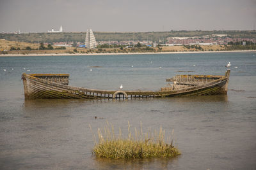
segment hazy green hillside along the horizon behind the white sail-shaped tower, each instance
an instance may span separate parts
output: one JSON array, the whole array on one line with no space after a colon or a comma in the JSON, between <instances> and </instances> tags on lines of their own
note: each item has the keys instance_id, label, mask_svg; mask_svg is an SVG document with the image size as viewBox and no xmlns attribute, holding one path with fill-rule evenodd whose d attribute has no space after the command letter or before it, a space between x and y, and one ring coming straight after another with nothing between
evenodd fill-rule
<instances>
[{"instance_id":1,"label":"hazy green hillside along the horizon behind the white sail-shaped tower","mask_svg":"<svg viewBox=\"0 0 256 170\"><path fill-rule=\"evenodd\" d=\"M172 36L205 36L211 34L228 34L230 38L255 38L256 31L168 31L168 32L94 32L97 41L150 40L165 41ZM42 32L28 34L0 34L0 39L24 41L28 43L52 43L63 41L84 42L86 32Z\"/></svg>"}]
</instances>

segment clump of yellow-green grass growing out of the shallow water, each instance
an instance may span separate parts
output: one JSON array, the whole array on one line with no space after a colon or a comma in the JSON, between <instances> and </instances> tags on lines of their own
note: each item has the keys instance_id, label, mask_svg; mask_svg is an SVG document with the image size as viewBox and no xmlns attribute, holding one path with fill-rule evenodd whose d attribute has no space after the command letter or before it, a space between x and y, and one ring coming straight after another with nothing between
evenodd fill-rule
<instances>
[{"instance_id":1,"label":"clump of yellow-green grass growing out of the shallow water","mask_svg":"<svg viewBox=\"0 0 256 170\"><path fill-rule=\"evenodd\" d=\"M164 139L165 131L160 127L159 132L154 133L148 129L148 132L143 134L142 125L140 131L134 128L134 134L131 133L131 126L128 122L128 136L122 136L121 129L118 134L115 134L113 125L107 122L104 127L104 133L98 129L99 141L96 141L93 148L93 153L96 157L108 159L137 159L137 158L156 158L156 157L177 157L180 152L173 146L173 139L170 137L166 142ZM172 132L173 133L173 132Z\"/></svg>"}]
</instances>

